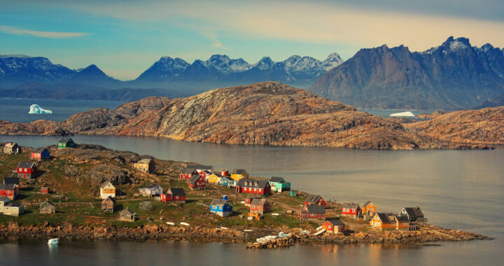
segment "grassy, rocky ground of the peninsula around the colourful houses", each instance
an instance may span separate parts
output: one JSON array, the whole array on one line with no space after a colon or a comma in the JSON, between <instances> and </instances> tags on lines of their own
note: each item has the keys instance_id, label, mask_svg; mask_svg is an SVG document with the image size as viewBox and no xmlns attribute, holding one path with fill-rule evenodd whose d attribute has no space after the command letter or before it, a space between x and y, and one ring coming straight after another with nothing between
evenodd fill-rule
<instances>
[{"instance_id":1,"label":"grassy, rocky ground of the peninsula around the colourful houses","mask_svg":"<svg viewBox=\"0 0 504 266\"><path fill-rule=\"evenodd\" d=\"M4 144L0 144L3 150ZM38 174L34 179L20 179L18 197L14 202L25 206L18 217L0 215L0 238L28 239L104 239L130 241L160 241L167 239L192 241L223 241L249 243L248 248L274 248L310 243L383 243L425 244L431 241L461 241L491 239L482 235L437 228L426 223L414 225L415 230L379 230L363 219L343 216L342 204L325 202L325 216L338 218L344 230L335 234L314 234L323 220L300 219L300 207L309 200L306 193L288 191L272 193L262 199L271 209L258 219L247 219L249 208L244 200L248 193L237 193L235 188L207 183L204 190L191 190L180 172L188 162L158 160L128 151L113 151L97 145L79 144L74 148L49 146L48 160L36 162ZM19 154L0 155L0 176L10 176L20 160L38 153L22 147ZM142 158L155 162L155 171L141 171L134 167ZM264 180L254 177L255 180ZM113 183L117 188L113 211L101 208L100 185ZM139 193L151 184L162 188L182 188L185 204L160 202L160 198ZM45 189L45 190L44 190ZM213 199L227 195L232 214L221 217L209 211ZM42 214L43 202L52 202L52 212ZM148 203L150 208L142 208ZM120 221L124 210L134 213L132 221ZM256 237L283 235L254 243Z\"/></svg>"}]
</instances>

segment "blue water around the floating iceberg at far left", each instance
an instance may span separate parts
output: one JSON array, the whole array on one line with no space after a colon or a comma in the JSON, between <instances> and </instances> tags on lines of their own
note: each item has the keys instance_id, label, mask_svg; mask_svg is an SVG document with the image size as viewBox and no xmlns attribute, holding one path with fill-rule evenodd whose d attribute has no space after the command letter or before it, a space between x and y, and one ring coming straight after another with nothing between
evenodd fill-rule
<instances>
[{"instance_id":1,"label":"blue water around the floating iceberg at far left","mask_svg":"<svg viewBox=\"0 0 504 266\"><path fill-rule=\"evenodd\" d=\"M52 113L29 114L31 104L38 104L43 109L52 111ZM29 123L41 119L62 121L75 113L99 107L115 109L120 104L123 104L123 102L0 98L0 120L17 123Z\"/></svg>"}]
</instances>

